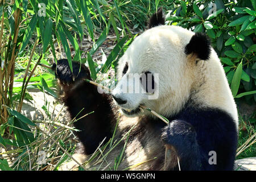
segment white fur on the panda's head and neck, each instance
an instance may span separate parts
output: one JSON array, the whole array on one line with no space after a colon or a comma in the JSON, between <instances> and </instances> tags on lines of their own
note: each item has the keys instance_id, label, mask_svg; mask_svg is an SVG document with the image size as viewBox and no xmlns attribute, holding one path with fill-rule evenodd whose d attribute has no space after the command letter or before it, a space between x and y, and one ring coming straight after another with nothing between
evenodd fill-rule
<instances>
[{"instance_id":1,"label":"white fur on the panda's head and neck","mask_svg":"<svg viewBox=\"0 0 256 182\"><path fill-rule=\"evenodd\" d=\"M201 106L214 106L227 111L238 124L236 104L216 52L211 49L209 60L201 60L197 65L195 56L185 55L185 46L193 35L193 32L181 27L158 26L138 36L119 60L119 82L113 94L127 100L127 104L121 107L133 110L143 103L168 117L176 114L192 90L196 90L194 101ZM129 69L122 77L126 62ZM128 77L130 73L146 71L159 74L158 99L148 100L146 93L121 92L123 82L133 79Z\"/></svg>"}]
</instances>

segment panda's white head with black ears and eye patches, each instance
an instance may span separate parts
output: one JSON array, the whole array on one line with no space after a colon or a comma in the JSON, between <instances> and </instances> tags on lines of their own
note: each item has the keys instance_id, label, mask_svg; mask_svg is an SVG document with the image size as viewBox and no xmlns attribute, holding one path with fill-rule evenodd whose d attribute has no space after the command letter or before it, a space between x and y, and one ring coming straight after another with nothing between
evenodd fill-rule
<instances>
[{"instance_id":1,"label":"panda's white head with black ears and eye patches","mask_svg":"<svg viewBox=\"0 0 256 182\"><path fill-rule=\"evenodd\" d=\"M130 117L142 114L141 105L167 117L177 113L204 84L201 71L211 52L207 36L165 26L159 10L151 17L149 29L119 60L118 84L112 93L115 104Z\"/></svg>"}]
</instances>

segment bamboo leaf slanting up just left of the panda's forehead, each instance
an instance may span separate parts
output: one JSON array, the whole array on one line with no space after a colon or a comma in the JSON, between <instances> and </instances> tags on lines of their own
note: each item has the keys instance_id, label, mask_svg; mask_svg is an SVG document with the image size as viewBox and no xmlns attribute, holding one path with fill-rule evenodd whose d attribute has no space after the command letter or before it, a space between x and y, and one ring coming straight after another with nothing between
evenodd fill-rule
<instances>
[{"instance_id":1,"label":"bamboo leaf slanting up just left of the panda's forehead","mask_svg":"<svg viewBox=\"0 0 256 182\"><path fill-rule=\"evenodd\" d=\"M127 40L127 36L119 40L117 45L113 48L113 50L110 52L108 59L106 60L105 64L102 66L101 72L105 73L108 68L110 67L111 63L115 60L115 58L118 56L118 53L121 51L123 44L125 44Z\"/></svg>"}]
</instances>

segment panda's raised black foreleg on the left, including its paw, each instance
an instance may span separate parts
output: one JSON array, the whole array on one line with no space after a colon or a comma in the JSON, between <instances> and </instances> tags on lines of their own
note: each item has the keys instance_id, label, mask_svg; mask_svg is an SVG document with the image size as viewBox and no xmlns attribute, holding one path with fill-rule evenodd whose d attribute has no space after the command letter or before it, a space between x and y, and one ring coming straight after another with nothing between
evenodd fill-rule
<instances>
[{"instance_id":1,"label":"panda's raised black foreleg on the left, including its paw","mask_svg":"<svg viewBox=\"0 0 256 182\"><path fill-rule=\"evenodd\" d=\"M53 64L52 69L63 89L61 100L67 106L71 119L81 118L73 125L81 130L76 135L84 146L84 153L89 155L104 138L108 142L112 136L114 114L108 95L98 93L97 86L83 80L91 80L89 69L76 62L72 65L73 73L67 59L59 60L57 67Z\"/></svg>"}]
</instances>

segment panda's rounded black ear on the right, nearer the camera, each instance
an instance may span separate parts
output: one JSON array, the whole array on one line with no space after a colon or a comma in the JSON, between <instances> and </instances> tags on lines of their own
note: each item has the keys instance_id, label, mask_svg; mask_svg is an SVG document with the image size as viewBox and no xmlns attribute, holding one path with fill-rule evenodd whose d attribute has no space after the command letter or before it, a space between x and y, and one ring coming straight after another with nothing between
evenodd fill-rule
<instances>
[{"instance_id":1,"label":"panda's rounded black ear on the right, nearer the camera","mask_svg":"<svg viewBox=\"0 0 256 182\"><path fill-rule=\"evenodd\" d=\"M210 56L210 40L207 35L196 32L185 47L187 55L195 53L201 60L207 60Z\"/></svg>"}]
</instances>

